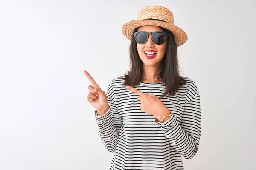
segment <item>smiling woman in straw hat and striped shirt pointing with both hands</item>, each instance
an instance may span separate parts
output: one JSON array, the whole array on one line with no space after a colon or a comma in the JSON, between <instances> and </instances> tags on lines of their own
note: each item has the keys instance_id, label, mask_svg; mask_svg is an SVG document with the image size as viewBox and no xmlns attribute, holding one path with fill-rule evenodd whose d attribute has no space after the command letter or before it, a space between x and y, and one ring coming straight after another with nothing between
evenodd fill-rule
<instances>
[{"instance_id":1,"label":"smiling woman in straw hat and striped shirt pointing with both hands","mask_svg":"<svg viewBox=\"0 0 256 170\"><path fill-rule=\"evenodd\" d=\"M181 156L195 156L201 135L198 88L178 71L186 33L167 8L147 6L122 34L131 40L127 74L112 79L105 94L84 71L100 137L114 153L109 169L182 170Z\"/></svg>"}]
</instances>

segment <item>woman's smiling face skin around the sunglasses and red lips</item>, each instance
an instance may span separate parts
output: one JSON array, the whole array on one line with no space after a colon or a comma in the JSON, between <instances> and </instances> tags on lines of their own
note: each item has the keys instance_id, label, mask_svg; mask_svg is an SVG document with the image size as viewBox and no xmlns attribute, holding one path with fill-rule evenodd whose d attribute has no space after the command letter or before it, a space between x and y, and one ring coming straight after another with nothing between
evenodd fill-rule
<instances>
[{"instance_id":1,"label":"woman's smiling face skin around the sunglasses and red lips","mask_svg":"<svg viewBox=\"0 0 256 170\"><path fill-rule=\"evenodd\" d=\"M146 31L146 32L156 32L156 31L162 31L157 26L141 26L138 31ZM154 44L154 42L151 39L152 34L149 35L148 41L145 44L138 44L137 43L137 50L138 54L140 56L140 59L143 62L143 66L153 66L157 67L160 65L161 60L163 59L164 55L166 54L166 48L167 48L167 43L168 43L168 38L166 37L166 41L163 44L157 45ZM154 50L156 51L156 56L154 58L147 58L146 55L150 54L145 54L146 50Z\"/></svg>"}]
</instances>

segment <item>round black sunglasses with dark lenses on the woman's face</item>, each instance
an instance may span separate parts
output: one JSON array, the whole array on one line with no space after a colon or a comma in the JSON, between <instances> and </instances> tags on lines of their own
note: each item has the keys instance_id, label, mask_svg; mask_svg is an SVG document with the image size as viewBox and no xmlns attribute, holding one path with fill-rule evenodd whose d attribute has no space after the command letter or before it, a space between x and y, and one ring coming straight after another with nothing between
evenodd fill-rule
<instances>
[{"instance_id":1,"label":"round black sunglasses with dark lenses on the woman's face","mask_svg":"<svg viewBox=\"0 0 256 170\"><path fill-rule=\"evenodd\" d=\"M145 44L148 41L149 34L152 34L151 36L152 41L157 45L163 44L166 41L166 37L169 36L169 34L162 31L157 31L157 32L138 31L138 32L134 32L135 41L138 44Z\"/></svg>"}]
</instances>

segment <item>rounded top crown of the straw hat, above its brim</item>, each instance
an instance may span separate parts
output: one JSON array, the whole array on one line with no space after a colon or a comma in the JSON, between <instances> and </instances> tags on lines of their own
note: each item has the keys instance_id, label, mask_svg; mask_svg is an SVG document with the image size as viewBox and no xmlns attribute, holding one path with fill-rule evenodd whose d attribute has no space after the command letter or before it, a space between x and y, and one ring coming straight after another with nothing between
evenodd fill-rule
<instances>
[{"instance_id":1,"label":"rounded top crown of the straw hat, above its brim","mask_svg":"<svg viewBox=\"0 0 256 170\"><path fill-rule=\"evenodd\" d=\"M174 25L172 12L163 6L146 6L138 14L137 20L157 19Z\"/></svg>"}]
</instances>

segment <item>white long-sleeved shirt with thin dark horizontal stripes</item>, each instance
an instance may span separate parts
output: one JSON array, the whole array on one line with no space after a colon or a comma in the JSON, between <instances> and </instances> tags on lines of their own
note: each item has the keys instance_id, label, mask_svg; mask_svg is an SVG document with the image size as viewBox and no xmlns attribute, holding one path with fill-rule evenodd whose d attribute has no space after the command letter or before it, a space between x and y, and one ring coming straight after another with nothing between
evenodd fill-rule
<instances>
[{"instance_id":1,"label":"white long-sleeved shirt with thin dark horizontal stripes","mask_svg":"<svg viewBox=\"0 0 256 170\"><path fill-rule=\"evenodd\" d=\"M109 170L183 170L181 156L191 159L198 151L201 135L200 96L188 78L175 95L160 100L172 113L164 123L140 109L140 100L125 88L124 76L112 79L106 96L110 108L102 116L95 110L99 134L105 148L114 153ZM137 85L138 90L160 97L164 83Z\"/></svg>"}]
</instances>

